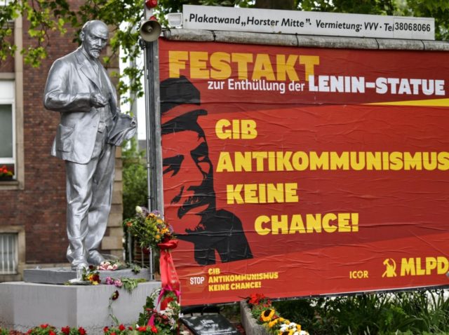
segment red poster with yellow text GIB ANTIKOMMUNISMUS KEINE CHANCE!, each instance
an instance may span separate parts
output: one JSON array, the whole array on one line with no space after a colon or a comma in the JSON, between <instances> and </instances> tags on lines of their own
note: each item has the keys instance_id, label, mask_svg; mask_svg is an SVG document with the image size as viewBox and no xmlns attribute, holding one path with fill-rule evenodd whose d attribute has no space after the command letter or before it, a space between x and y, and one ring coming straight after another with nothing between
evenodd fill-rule
<instances>
[{"instance_id":1,"label":"red poster with yellow text GIB ANTIKOMMUNISMUS KEINE CHANCE!","mask_svg":"<svg viewBox=\"0 0 449 335\"><path fill-rule=\"evenodd\" d=\"M443 52L159 43L182 304L448 285Z\"/></svg>"}]
</instances>

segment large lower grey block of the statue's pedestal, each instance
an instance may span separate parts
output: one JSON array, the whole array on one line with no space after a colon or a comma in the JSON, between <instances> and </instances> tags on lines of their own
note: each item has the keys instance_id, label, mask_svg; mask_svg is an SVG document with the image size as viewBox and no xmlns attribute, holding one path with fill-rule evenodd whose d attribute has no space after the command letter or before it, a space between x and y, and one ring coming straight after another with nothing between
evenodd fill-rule
<instances>
[{"instance_id":1,"label":"large lower grey block of the statue's pedestal","mask_svg":"<svg viewBox=\"0 0 449 335\"><path fill-rule=\"evenodd\" d=\"M134 325L147 296L161 287L161 282L142 282L133 292L113 285L45 285L27 282L0 283L0 327L26 332L40 324L83 327L89 335L103 334L114 322ZM119 299L109 298L119 291Z\"/></svg>"}]
</instances>

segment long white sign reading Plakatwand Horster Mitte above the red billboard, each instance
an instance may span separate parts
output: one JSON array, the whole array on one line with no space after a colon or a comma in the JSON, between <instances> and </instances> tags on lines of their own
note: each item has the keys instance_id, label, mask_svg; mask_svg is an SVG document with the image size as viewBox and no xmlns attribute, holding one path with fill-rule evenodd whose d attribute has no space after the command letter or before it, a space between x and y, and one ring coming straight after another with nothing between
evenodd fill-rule
<instances>
[{"instance_id":1,"label":"long white sign reading Plakatwand Horster Mitte above the red billboard","mask_svg":"<svg viewBox=\"0 0 449 335\"><path fill-rule=\"evenodd\" d=\"M383 39L435 39L434 18L182 6L185 29Z\"/></svg>"}]
</instances>

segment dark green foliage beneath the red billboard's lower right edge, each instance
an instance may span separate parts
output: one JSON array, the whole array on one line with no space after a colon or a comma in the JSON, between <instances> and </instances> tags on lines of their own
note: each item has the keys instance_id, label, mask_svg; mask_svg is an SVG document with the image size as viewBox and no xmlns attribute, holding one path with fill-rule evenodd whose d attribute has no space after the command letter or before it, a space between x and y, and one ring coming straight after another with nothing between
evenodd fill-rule
<instances>
[{"instance_id":1,"label":"dark green foliage beneath the red billboard's lower right edge","mask_svg":"<svg viewBox=\"0 0 449 335\"><path fill-rule=\"evenodd\" d=\"M310 334L449 334L443 290L276 301L283 317Z\"/></svg>"}]
</instances>

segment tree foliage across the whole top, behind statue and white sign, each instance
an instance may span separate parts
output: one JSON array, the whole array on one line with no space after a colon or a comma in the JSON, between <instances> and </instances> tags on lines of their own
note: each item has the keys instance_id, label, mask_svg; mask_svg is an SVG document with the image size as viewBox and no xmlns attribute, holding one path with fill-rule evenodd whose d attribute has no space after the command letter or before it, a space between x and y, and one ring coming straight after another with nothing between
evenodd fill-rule
<instances>
[{"instance_id":1,"label":"tree foliage across the whole top, behind statue and white sign","mask_svg":"<svg viewBox=\"0 0 449 335\"><path fill-rule=\"evenodd\" d=\"M10 0L6 6L0 6L0 62L13 55L16 46L12 42L12 29L8 22L23 15L30 22L28 31L36 42L33 47L22 50L26 64L39 67L40 61L47 56L46 46L51 41L49 31L67 33L67 27L79 32L87 20L100 19L111 26L116 34L110 41L112 53L123 50L123 61L129 63L141 53L138 47L139 25L143 18L144 0L86 0L81 6L79 1L69 0ZM339 13L363 13L378 15L415 15L436 19L436 38L449 38L449 1L441 0L159 0L157 13L163 18L166 13L182 11L182 5L239 6L272 9L297 9L303 11L326 11ZM78 39L78 34L74 40ZM105 63L111 61L105 57ZM129 80L119 81L119 93L122 102L130 97L143 95L140 81L142 69L128 66L122 69L121 76ZM119 74L116 74L119 76ZM134 92L134 95L124 94Z\"/></svg>"}]
</instances>

